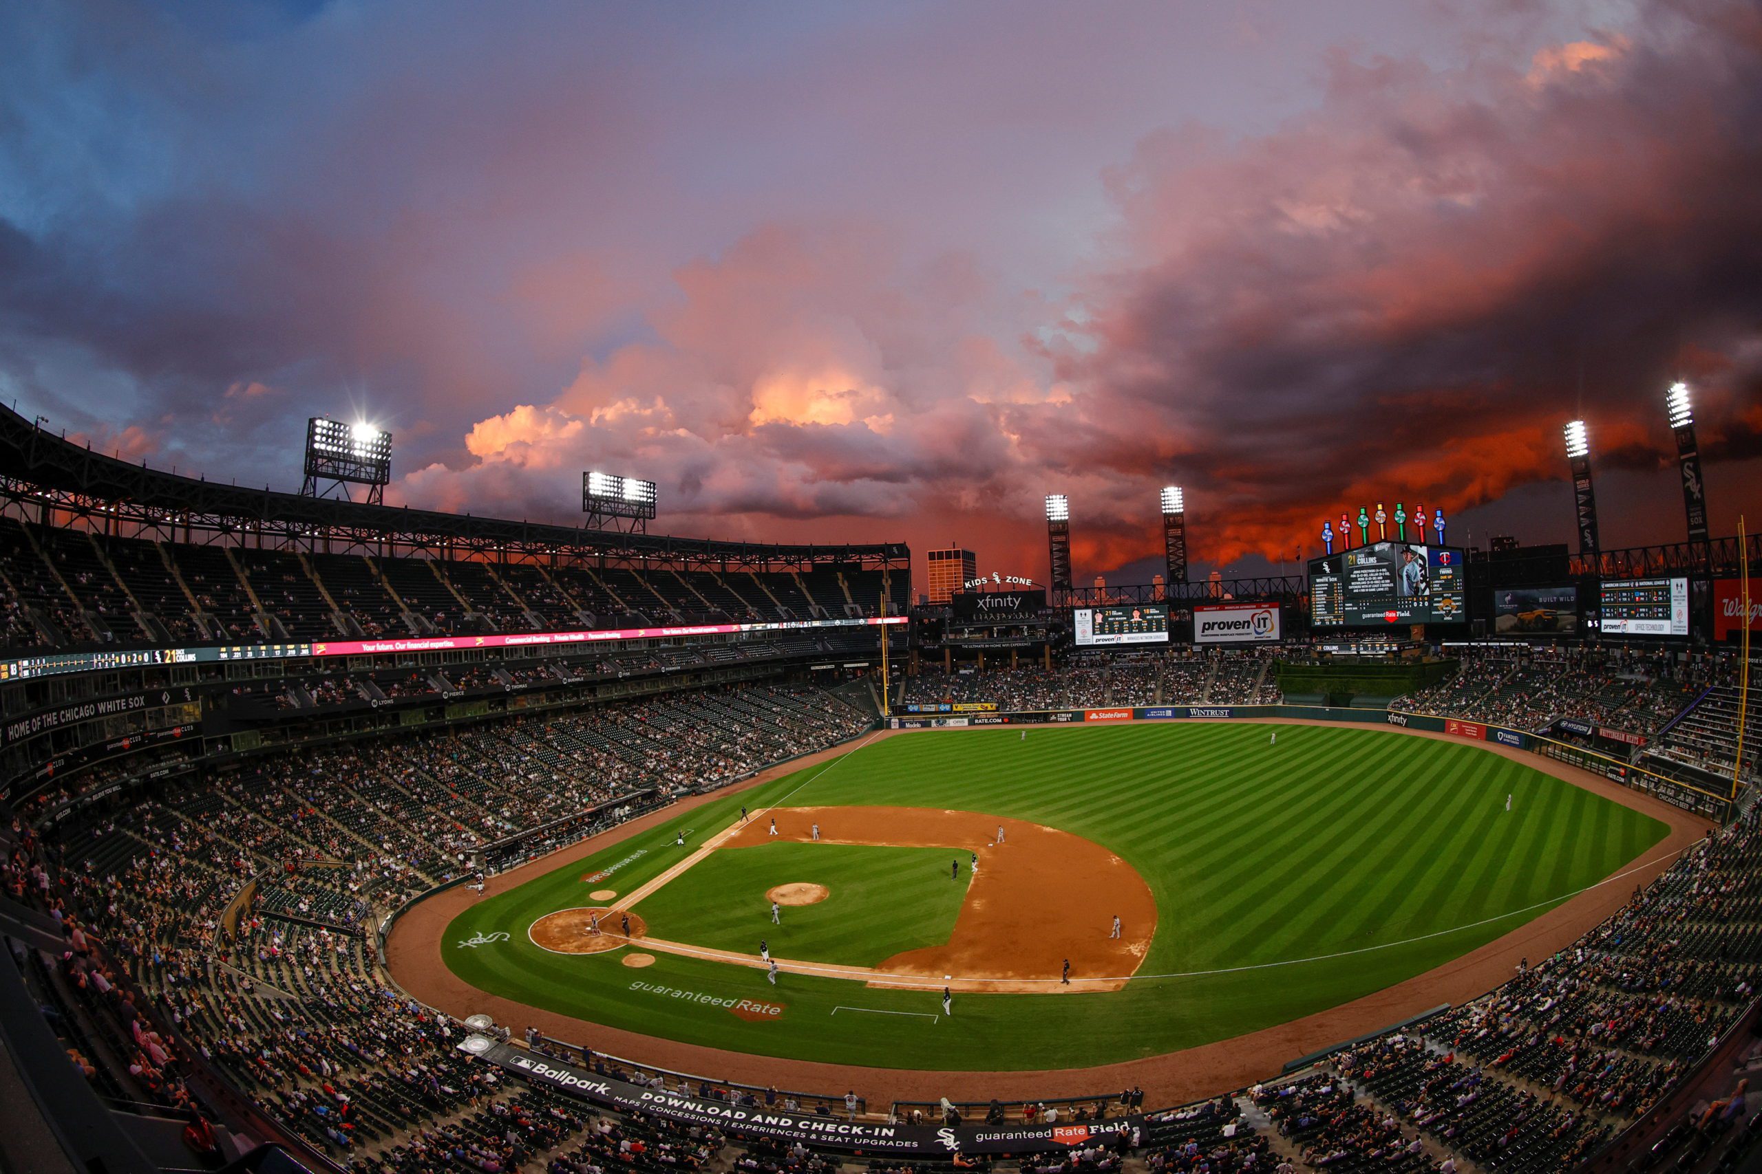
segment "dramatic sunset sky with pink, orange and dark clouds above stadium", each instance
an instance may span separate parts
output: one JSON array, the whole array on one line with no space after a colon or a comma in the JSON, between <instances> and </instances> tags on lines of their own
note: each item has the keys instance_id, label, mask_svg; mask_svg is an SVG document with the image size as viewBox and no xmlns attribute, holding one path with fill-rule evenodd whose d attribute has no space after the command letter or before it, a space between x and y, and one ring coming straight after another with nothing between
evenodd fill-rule
<instances>
[{"instance_id":1,"label":"dramatic sunset sky with pink, orange and dark clouds above stadium","mask_svg":"<svg viewBox=\"0 0 1762 1174\"><path fill-rule=\"evenodd\" d=\"M153 466L1147 581L1570 542L1575 415L1679 540L1677 378L1762 526L1750 0L0 5L0 400Z\"/></svg>"}]
</instances>

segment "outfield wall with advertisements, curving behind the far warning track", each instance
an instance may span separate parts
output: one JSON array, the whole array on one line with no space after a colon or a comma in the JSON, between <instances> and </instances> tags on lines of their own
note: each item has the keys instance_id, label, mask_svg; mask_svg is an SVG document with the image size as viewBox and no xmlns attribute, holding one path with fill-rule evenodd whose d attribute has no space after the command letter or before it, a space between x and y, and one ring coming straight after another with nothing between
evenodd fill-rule
<instances>
[{"instance_id":1,"label":"outfield wall with advertisements, curving behind the far warning track","mask_svg":"<svg viewBox=\"0 0 1762 1174\"><path fill-rule=\"evenodd\" d=\"M1507 725L1487 722L1464 722L1462 718L1440 718L1429 713L1410 713L1406 709L1362 709L1348 706L1103 706L1089 709L1034 709L1001 711L992 702L941 702L916 704L914 713L886 718L886 727L895 730L925 729L969 729L983 725L1105 725L1112 722L1218 722L1218 720L1269 720L1286 718L1299 722L1351 722L1357 725L1396 725L1408 730L1425 730L1427 734L1447 734L1464 741L1485 741L1514 750L1528 750L1558 762L1566 762L1582 771L1600 774L1612 783L1621 783L1632 790L1642 790L1670 806L1695 811L1711 820L1727 820L1732 803L1727 796L1702 790L1681 780L1665 778L1642 766L1633 766L1621 759L1612 759L1596 750L1565 743L1545 734L1531 734Z\"/></svg>"}]
</instances>

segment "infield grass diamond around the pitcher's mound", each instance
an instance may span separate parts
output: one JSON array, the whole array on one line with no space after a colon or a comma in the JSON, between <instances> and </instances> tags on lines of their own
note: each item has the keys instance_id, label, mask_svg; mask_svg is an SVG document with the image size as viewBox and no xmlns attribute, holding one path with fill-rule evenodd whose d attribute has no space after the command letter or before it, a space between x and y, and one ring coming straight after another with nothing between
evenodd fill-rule
<instances>
[{"instance_id":1,"label":"infield grass diamond around the pitcher's mound","mask_svg":"<svg viewBox=\"0 0 1762 1174\"><path fill-rule=\"evenodd\" d=\"M770 919L765 891L795 880L826 885L818 905ZM721 848L647 898L648 935L717 950L874 966L900 950L941 945L967 896L967 869L948 877L946 848L766 843Z\"/></svg>"}]
</instances>

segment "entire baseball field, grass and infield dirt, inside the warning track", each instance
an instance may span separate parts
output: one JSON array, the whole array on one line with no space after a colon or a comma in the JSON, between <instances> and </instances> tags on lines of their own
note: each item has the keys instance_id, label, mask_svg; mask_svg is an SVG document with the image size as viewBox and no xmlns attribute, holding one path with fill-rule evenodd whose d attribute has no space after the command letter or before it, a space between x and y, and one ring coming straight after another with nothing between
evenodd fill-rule
<instances>
[{"instance_id":1,"label":"entire baseball field, grass and infield dirt, inside the warning track","mask_svg":"<svg viewBox=\"0 0 1762 1174\"><path fill-rule=\"evenodd\" d=\"M1424 973L1669 831L1485 748L1272 729L860 743L476 901L442 956L481 991L691 1044L1062 1068Z\"/></svg>"}]
</instances>

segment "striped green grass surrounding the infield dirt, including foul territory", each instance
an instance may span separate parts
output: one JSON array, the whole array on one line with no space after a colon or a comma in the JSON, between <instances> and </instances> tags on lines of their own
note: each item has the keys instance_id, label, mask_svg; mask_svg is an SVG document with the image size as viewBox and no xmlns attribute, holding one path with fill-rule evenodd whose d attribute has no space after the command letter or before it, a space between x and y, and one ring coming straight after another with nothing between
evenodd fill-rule
<instances>
[{"instance_id":1,"label":"striped green grass surrounding the infield dirt, including foul territory","mask_svg":"<svg viewBox=\"0 0 1762 1174\"><path fill-rule=\"evenodd\" d=\"M1304 725L1279 727L1270 746L1267 730L1138 723L1031 730L1025 741L1013 729L883 739L483 901L453 921L442 949L455 973L486 991L715 1047L906 1068L1094 1065L1228 1038L1401 982L1540 915L1667 834L1484 748ZM675 827L703 836L738 818L742 803L946 806L1062 827L1144 875L1159 906L1156 938L1124 991L969 994L950 1019L848 1010L937 1012L930 991L802 975L772 987L759 970L670 954L636 972L620 952L557 956L527 940L536 917L587 905L589 889L627 892L678 862L689 848L673 847ZM643 855L611 880L581 882L634 850ZM640 908L648 915L648 901ZM456 947L476 931L513 940ZM772 998L788 1010L747 1023L654 987Z\"/></svg>"}]
</instances>

